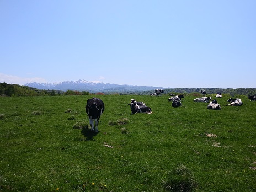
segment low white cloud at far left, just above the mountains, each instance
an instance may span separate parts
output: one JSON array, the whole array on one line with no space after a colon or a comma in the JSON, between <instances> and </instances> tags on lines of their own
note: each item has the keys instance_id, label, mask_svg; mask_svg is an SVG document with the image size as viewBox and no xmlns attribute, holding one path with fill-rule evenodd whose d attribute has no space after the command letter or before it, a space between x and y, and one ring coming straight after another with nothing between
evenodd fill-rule
<instances>
[{"instance_id":1,"label":"low white cloud at far left, just above the mountains","mask_svg":"<svg viewBox=\"0 0 256 192\"><path fill-rule=\"evenodd\" d=\"M8 84L26 84L26 83L46 83L46 80L41 77L23 78L18 76L12 76L9 74L0 73L0 82L6 82Z\"/></svg>"}]
</instances>

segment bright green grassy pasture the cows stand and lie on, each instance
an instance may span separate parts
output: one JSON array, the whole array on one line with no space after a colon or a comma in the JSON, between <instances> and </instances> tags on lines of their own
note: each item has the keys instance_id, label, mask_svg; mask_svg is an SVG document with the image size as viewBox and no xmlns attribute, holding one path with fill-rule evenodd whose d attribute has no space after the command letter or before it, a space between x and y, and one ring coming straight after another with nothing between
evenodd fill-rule
<instances>
[{"instance_id":1,"label":"bright green grassy pasture the cows stand and lie on","mask_svg":"<svg viewBox=\"0 0 256 192\"><path fill-rule=\"evenodd\" d=\"M207 110L193 95L180 108L167 95L97 95L99 133L73 129L89 124L93 96L0 97L0 191L167 191L186 177L180 167L194 191L256 191L256 102L246 96ZM153 114L130 115L132 98Z\"/></svg>"}]
</instances>

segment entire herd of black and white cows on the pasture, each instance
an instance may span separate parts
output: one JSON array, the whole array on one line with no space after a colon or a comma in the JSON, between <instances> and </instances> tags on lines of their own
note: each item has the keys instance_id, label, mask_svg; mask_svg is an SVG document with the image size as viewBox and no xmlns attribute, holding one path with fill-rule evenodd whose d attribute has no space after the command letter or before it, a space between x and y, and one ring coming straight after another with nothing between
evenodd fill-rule
<instances>
[{"instance_id":1,"label":"entire herd of black and white cows on the pasture","mask_svg":"<svg viewBox=\"0 0 256 192\"><path fill-rule=\"evenodd\" d=\"M163 92L164 92L163 89L156 89L155 93L150 94L150 95L151 96L160 96L160 95L162 95ZM206 95L205 90L201 90L200 93L203 96ZM170 97L168 99L168 101L172 102L172 106L174 108L182 106L182 98L184 98L183 95L173 95L173 94L169 94L169 95L172 97ZM222 98L221 93L218 93L216 95L216 98ZM207 106L207 109L220 110L221 106L220 106L220 104L217 103L217 100L216 99L211 100L211 99L212 99L211 97L201 97L201 98L194 99L194 102L209 103L209 105ZM253 96L249 95L248 99L250 99L251 101L256 101L255 95L253 95ZM243 104L242 100L239 98L236 98L236 99L230 98L227 100L227 102L230 102L230 103L227 104L226 106L228 106L228 105L241 106ZM146 106L146 104L143 102L137 102L135 99L131 99L131 103L129 103L128 105L130 105L132 114L136 114L136 113L151 114L152 113L152 110L150 107ZM92 98L92 99L87 100L86 113L89 117L90 127L93 132L98 132L98 124L99 124L100 115L102 115L104 109L105 109L105 106L101 99ZM95 121L95 125L94 125L94 121Z\"/></svg>"}]
</instances>

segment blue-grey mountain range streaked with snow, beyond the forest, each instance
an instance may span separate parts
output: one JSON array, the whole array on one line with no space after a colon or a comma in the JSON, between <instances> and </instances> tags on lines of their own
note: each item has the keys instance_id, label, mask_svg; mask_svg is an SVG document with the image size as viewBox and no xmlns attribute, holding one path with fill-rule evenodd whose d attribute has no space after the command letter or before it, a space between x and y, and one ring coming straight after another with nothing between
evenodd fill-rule
<instances>
[{"instance_id":1,"label":"blue-grey mountain range streaked with snow, beyond the forest","mask_svg":"<svg viewBox=\"0 0 256 192\"><path fill-rule=\"evenodd\" d=\"M88 92L132 92L132 91L150 91L154 89L166 89L153 86L130 86L127 84L94 83L86 80L63 81L54 83L26 83L24 86L44 90L79 90Z\"/></svg>"}]
</instances>

